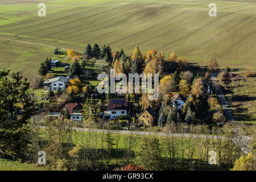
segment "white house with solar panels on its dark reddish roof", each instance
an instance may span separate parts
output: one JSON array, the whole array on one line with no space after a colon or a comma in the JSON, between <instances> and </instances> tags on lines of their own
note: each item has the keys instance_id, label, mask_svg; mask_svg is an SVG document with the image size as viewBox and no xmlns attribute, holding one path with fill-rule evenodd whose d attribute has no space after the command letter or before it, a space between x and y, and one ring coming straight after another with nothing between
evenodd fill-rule
<instances>
[{"instance_id":1,"label":"white house with solar panels on its dark reddish roof","mask_svg":"<svg viewBox=\"0 0 256 182\"><path fill-rule=\"evenodd\" d=\"M127 99L126 98L112 98L109 100L108 110L104 111L104 119L114 119L119 115L127 116Z\"/></svg>"}]
</instances>

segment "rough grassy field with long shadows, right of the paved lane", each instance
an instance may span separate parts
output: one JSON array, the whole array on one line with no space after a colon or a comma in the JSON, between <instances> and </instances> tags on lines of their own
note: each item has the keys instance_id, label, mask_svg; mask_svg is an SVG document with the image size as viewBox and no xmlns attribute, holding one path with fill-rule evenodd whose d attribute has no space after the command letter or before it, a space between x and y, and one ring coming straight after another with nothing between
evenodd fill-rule
<instances>
[{"instance_id":1,"label":"rough grassy field with long shadows, right of the paved lane","mask_svg":"<svg viewBox=\"0 0 256 182\"><path fill-rule=\"evenodd\" d=\"M256 123L256 77L237 81L238 87L226 94L235 121Z\"/></svg>"}]
</instances>

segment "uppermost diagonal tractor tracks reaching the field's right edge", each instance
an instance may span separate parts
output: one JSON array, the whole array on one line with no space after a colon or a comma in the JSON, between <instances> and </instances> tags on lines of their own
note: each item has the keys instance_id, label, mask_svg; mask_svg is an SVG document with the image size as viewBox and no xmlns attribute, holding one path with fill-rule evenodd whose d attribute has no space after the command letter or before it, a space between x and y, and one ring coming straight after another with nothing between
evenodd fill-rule
<instances>
[{"instance_id":1,"label":"uppermost diagonal tractor tracks reaching the field's right edge","mask_svg":"<svg viewBox=\"0 0 256 182\"><path fill-rule=\"evenodd\" d=\"M249 19L252 18L253 16L254 16L254 15L247 16L246 18L242 19L240 22L238 22L238 23L234 24L233 26L227 28L226 30L224 30L224 31L222 31L222 32L220 32L220 33L218 33L217 35L212 36L211 38L209 38L209 39L206 40L205 42L199 44L198 46L193 47L193 48L191 48L191 49L185 51L185 52L183 53L183 55L188 55L189 53L191 53L191 52L193 52L193 51L196 51L196 49L199 49L201 46L204 46L205 44L209 43L209 42L212 41L213 39L216 39L216 38L218 38L219 36L225 34L226 32L232 30L233 28L236 28L237 26L239 26L239 25L242 24L243 22L246 22L247 20L249 20ZM216 58L217 58L217 57L216 57Z\"/></svg>"}]
</instances>

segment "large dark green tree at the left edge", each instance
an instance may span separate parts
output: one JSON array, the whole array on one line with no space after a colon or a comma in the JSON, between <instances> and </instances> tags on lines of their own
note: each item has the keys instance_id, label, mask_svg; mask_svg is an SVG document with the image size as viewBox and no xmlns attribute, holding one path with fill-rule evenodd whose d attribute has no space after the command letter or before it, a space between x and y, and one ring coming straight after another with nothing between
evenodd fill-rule
<instances>
[{"instance_id":1,"label":"large dark green tree at the left edge","mask_svg":"<svg viewBox=\"0 0 256 182\"><path fill-rule=\"evenodd\" d=\"M28 119L32 101L28 96L30 84L19 72L0 70L0 156L24 158L28 144ZM21 105L18 106L17 104Z\"/></svg>"}]
</instances>

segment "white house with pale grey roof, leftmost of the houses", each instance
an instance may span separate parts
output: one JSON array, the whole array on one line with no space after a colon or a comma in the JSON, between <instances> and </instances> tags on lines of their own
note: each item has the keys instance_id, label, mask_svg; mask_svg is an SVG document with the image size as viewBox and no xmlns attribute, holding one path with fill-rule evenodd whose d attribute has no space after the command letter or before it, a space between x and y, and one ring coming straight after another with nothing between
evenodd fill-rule
<instances>
[{"instance_id":1,"label":"white house with pale grey roof, leftmost of the houses","mask_svg":"<svg viewBox=\"0 0 256 182\"><path fill-rule=\"evenodd\" d=\"M64 90L67 87L68 82L69 78L63 76L46 80L43 82L44 91L47 92L49 88L51 88L52 91L57 91L59 88Z\"/></svg>"}]
</instances>

